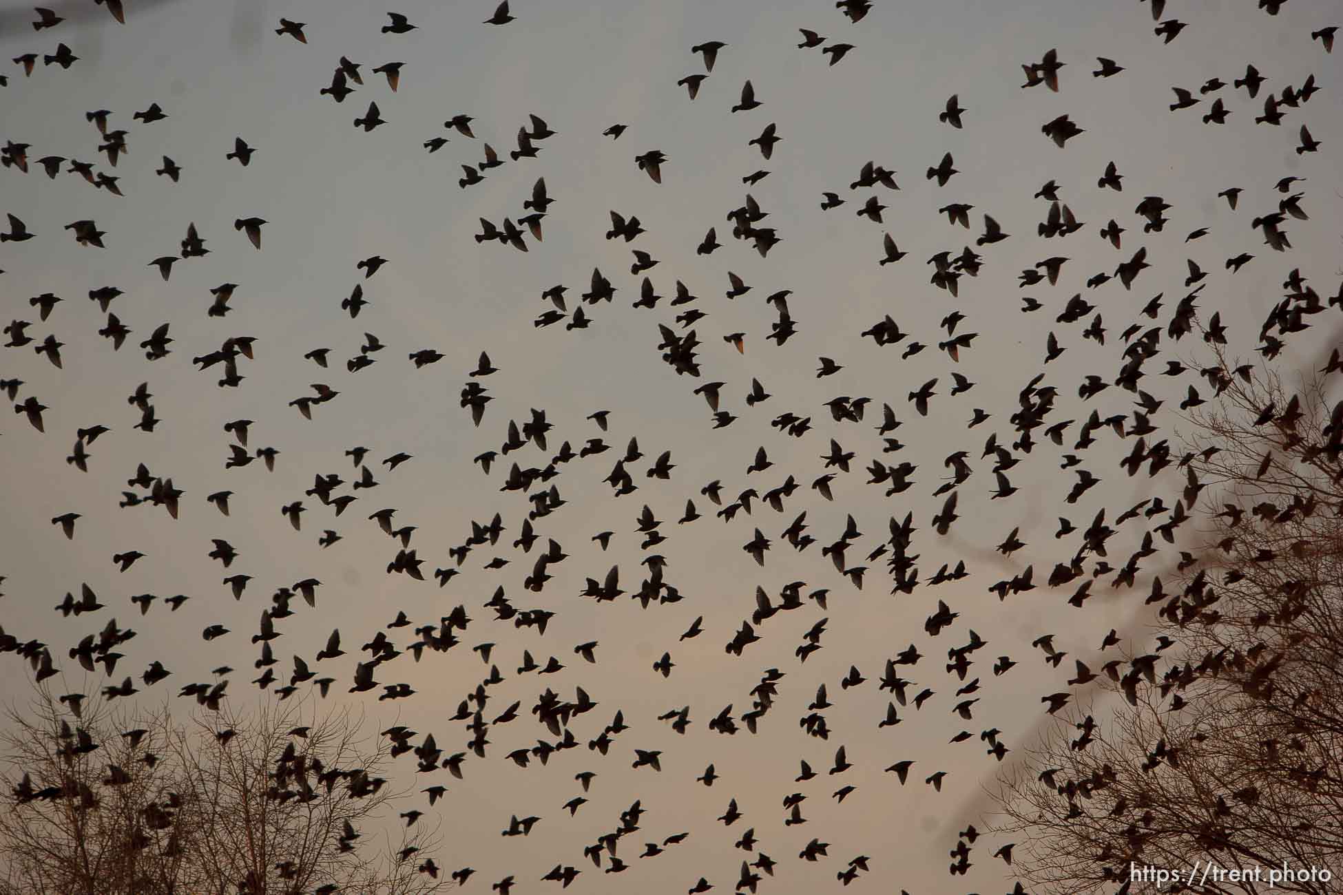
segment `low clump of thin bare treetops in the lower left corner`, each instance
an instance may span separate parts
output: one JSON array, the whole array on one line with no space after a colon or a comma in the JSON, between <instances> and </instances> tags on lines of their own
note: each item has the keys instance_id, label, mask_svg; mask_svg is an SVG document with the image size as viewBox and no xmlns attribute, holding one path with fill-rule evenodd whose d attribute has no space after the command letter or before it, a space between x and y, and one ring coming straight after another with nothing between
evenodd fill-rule
<instances>
[{"instance_id":1,"label":"low clump of thin bare treetops in the lower left corner","mask_svg":"<svg viewBox=\"0 0 1343 895\"><path fill-rule=\"evenodd\" d=\"M428 895L435 831L387 814L406 793L349 708L70 703L38 686L0 734L0 895ZM399 844L375 828L391 821ZM414 827L414 829L412 829ZM384 847L377 848L381 841Z\"/></svg>"}]
</instances>

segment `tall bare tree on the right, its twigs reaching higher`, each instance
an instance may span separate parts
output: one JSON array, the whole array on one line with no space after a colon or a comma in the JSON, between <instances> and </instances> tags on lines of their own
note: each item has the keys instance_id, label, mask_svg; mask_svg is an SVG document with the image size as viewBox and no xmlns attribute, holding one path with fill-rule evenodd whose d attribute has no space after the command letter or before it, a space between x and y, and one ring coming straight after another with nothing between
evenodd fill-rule
<instances>
[{"instance_id":1,"label":"tall bare tree on the right, its twigs reaching higher","mask_svg":"<svg viewBox=\"0 0 1343 895\"><path fill-rule=\"evenodd\" d=\"M1154 582L1156 647L1080 684L1089 702L997 793L1041 892L1338 891L1343 401L1319 373L1291 389L1214 354L1182 495L1211 509L1180 586Z\"/></svg>"}]
</instances>

